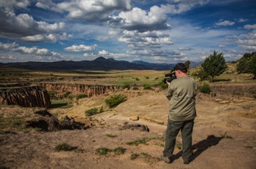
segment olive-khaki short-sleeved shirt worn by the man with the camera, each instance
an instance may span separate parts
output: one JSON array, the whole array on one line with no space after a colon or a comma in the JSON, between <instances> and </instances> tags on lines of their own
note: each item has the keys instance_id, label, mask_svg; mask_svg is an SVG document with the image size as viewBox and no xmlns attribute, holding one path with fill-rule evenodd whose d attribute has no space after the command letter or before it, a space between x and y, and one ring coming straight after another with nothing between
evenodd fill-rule
<instances>
[{"instance_id":1,"label":"olive-khaki short-sleeved shirt worn by the man with the camera","mask_svg":"<svg viewBox=\"0 0 256 169\"><path fill-rule=\"evenodd\" d=\"M196 90L197 85L191 76L181 76L170 83L166 93L166 97L170 100L170 120L183 122L197 116Z\"/></svg>"}]
</instances>

